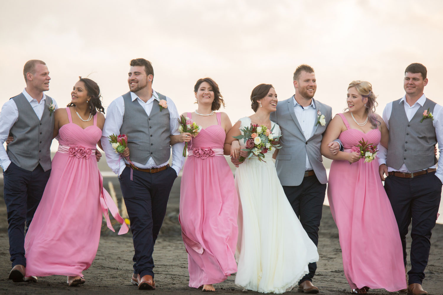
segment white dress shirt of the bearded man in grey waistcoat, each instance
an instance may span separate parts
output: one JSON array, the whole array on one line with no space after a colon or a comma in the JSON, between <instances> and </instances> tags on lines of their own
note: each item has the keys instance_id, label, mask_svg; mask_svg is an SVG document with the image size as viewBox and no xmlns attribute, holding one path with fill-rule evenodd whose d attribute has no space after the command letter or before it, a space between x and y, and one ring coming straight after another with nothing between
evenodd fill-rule
<instances>
[{"instance_id":1,"label":"white dress shirt of the bearded man in grey waistcoat","mask_svg":"<svg viewBox=\"0 0 443 295\"><path fill-rule=\"evenodd\" d=\"M148 102L144 102L141 100L134 92L131 92L132 101L137 100L138 103L144 108L146 114L149 116L151 114L152 105L155 102L159 102L159 97L155 91L152 91L152 97L148 100ZM167 109L169 111L169 130L171 135L180 134L179 132L179 112L177 111L177 107L175 107L174 102L166 97ZM124 115L124 100L123 96L119 96L116 100L113 100L112 103L109 104L107 115L105 119L105 126L103 126L103 132L101 134L101 146L106 154L106 161L108 162L109 168L120 176L121 172L123 172L124 168L126 168L123 157L116 154L113 147L109 143L108 136L111 134L120 134L120 128L123 124L123 115ZM144 126L140 126L143 128ZM185 144L183 142L177 143L172 146L172 168L175 169L177 175L179 175L180 170L185 163L185 157L183 157L183 148ZM136 163L132 161L132 163L140 168L140 169L150 169L150 168L159 168L164 165L167 165L168 162L165 163L155 163L152 157L149 158L146 163Z\"/></svg>"}]
</instances>

